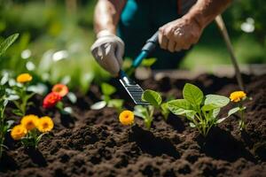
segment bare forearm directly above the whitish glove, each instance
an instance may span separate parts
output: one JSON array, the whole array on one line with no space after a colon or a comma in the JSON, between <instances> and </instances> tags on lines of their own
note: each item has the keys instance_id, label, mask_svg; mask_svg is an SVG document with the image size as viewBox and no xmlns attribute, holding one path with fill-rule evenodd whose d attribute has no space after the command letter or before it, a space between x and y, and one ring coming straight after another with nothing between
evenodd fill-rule
<instances>
[{"instance_id":1,"label":"bare forearm directly above the whitish glove","mask_svg":"<svg viewBox=\"0 0 266 177\"><path fill-rule=\"evenodd\" d=\"M94 13L96 34L104 29L115 34L125 2L126 0L98 0Z\"/></svg>"}]
</instances>

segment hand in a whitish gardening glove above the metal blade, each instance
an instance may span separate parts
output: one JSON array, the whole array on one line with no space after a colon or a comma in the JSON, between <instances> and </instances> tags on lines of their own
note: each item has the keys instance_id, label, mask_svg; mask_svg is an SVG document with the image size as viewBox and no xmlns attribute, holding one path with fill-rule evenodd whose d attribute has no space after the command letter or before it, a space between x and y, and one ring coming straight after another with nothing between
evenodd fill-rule
<instances>
[{"instance_id":1,"label":"hand in a whitish gardening glove above the metal blade","mask_svg":"<svg viewBox=\"0 0 266 177\"><path fill-rule=\"evenodd\" d=\"M122 65L124 42L107 30L100 31L97 38L90 48L93 57L107 72L117 76Z\"/></svg>"}]
</instances>

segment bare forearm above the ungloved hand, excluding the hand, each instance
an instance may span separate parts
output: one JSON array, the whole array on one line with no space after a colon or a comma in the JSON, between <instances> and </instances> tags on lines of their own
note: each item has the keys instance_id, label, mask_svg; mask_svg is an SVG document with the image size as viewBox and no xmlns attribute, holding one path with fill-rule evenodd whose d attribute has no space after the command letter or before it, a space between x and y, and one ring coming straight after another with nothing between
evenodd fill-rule
<instances>
[{"instance_id":1,"label":"bare forearm above the ungloved hand, excluding the hand","mask_svg":"<svg viewBox=\"0 0 266 177\"><path fill-rule=\"evenodd\" d=\"M232 0L198 0L184 19L195 20L200 27L206 27L215 17L222 13Z\"/></svg>"}]
</instances>

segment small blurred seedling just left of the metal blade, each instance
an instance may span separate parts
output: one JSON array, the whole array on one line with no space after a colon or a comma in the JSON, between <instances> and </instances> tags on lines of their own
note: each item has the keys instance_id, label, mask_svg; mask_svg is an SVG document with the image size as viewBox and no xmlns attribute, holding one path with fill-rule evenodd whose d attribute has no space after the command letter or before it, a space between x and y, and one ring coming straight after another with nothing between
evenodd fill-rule
<instances>
[{"instance_id":1,"label":"small blurred seedling just left of the metal blade","mask_svg":"<svg viewBox=\"0 0 266 177\"><path fill-rule=\"evenodd\" d=\"M97 102L96 104L92 104L90 106L90 109L92 110L100 110L104 107L113 107L117 110L117 112L121 112L123 100L122 99L112 99L111 96L113 93L116 92L116 89L108 84L108 83L102 83L101 84L101 91L103 93L102 101Z\"/></svg>"}]
</instances>

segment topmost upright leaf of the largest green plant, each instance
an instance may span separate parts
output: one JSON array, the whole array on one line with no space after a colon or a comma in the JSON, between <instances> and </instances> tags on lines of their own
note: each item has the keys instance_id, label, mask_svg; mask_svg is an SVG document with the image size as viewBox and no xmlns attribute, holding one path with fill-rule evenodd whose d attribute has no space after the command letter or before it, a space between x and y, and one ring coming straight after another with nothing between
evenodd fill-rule
<instances>
[{"instance_id":1,"label":"topmost upright leaf of the largest green plant","mask_svg":"<svg viewBox=\"0 0 266 177\"><path fill-rule=\"evenodd\" d=\"M203 99L202 91L190 83L184 85L183 96L192 105L200 105Z\"/></svg>"}]
</instances>

